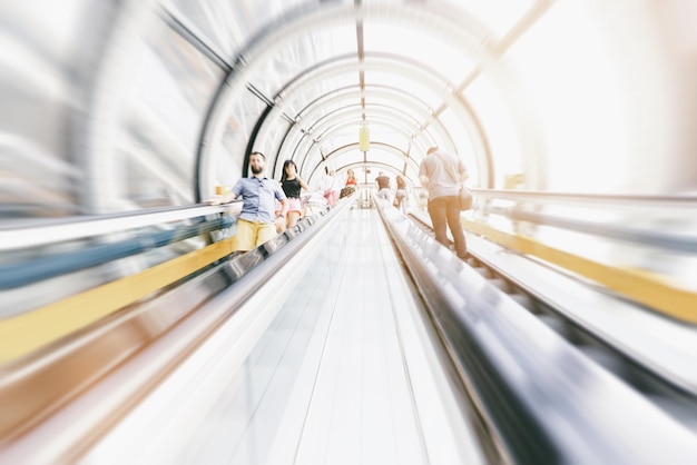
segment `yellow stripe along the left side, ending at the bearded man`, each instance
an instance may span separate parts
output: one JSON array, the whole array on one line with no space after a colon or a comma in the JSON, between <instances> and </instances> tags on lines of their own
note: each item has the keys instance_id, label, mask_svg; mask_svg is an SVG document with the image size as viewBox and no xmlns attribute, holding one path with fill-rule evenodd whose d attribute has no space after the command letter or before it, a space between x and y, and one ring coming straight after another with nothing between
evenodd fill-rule
<instances>
[{"instance_id":1,"label":"yellow stripe along the left side, ending at the bearded man","mask_svg":"<svg viewBox=\"0 0 697 465\"><path fill-rule=\"evenodd\" d=\"M233 253L233 238L135 275L0 320L0 364L21 357L124 308Z\"/></svg>"}]
</instances>

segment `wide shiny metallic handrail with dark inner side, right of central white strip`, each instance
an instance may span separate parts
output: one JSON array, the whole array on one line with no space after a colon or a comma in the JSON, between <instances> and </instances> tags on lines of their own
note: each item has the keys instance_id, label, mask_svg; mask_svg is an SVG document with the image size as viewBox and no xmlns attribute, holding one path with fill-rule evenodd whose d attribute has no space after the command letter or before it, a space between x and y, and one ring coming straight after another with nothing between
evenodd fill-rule
<instances>
[{"instance_id":1,"label":"wide shiny metallic handrail with dark inner side, right of central white strip","mask_svg":"<svg viewBox=\"0 0 697 465\"><path fill-rule=\"evenodd\" d=\"M534 464L647 463L651 456L670 462L697 453L687 429L608 376L406 216L382 207L454 369L503 456Z\"/></svg>"}]
</instances>

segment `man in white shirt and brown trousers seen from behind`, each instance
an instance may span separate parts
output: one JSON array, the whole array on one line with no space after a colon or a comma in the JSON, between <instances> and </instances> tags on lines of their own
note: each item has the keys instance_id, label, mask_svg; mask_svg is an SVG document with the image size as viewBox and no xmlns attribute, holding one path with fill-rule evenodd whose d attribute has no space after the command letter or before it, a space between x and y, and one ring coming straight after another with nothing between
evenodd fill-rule
<instances>
[{"instance_id":1,"label":"man in white shirt and brown trousers seen from behind","mask_svg":"<svg viewBox=\"0 0 697 465\"><path fill-rule=\"evenodd\" d=\"M454 178L454 176L458 178ZM438 147L426 150L419 166L419 180L429 191L428 210L433 224L435 240L448 247L448 228L455 243L458 257L467 257L467 241L460 222L460 186L469 177L468 170L457 155L446 154Z\"/></svg>"}]
</instances>

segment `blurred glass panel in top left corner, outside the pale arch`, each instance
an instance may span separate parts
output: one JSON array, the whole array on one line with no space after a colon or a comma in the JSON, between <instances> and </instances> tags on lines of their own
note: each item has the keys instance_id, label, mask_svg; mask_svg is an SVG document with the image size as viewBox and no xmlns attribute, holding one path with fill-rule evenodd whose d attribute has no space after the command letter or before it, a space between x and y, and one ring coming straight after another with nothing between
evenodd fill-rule
<instances>
[{"instance_id":1,"label":"blurred glass panel in top left corner, outside the pale arch","mask_svg":"<svg viewBox=\"0 0 697 465\"><path fill-rule=\"evenodd\" d=\"M112 8L87 0L3 2L0 221L84 208L85 147L76 136Z\"/></svg>"}]
</instances>

